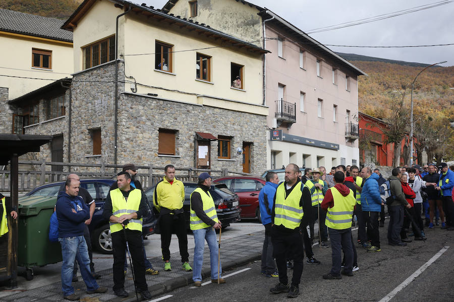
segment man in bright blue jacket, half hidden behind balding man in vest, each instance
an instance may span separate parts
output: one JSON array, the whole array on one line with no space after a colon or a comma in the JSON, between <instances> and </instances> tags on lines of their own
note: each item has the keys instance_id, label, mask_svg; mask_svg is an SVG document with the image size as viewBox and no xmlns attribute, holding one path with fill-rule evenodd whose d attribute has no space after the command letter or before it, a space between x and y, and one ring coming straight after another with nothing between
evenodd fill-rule
<instances>
[{"instance_id":1,"label":"man in bright blue jacket, half hidden behind balding man in vest","mask_svg":"<svg viewBox=\"0 0 454 302\"><path fill-rule=\"evenodd\" d=\"M279 184L279 177L276 172L268 172L265 180L265 186L259 193L260 217L262 218L262 224L265 226L261 273L266 274L267 277L278 277L276 262L273 258L273 245L271 244L271 212L273 211L274 195Z\"/></svg>"}]
</instances>

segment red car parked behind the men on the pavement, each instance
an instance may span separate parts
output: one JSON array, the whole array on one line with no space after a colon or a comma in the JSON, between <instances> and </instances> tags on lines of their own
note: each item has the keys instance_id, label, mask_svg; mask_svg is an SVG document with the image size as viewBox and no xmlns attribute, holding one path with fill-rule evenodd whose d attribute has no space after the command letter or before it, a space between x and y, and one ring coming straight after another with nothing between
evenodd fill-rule
<instances>
[{"instance_id":1,"label":"red car parked behind the men on the pavement","mask_svg":"<svg viewBox=\"0 0 454 302\"><path fill-rule=\"evenodd\" d=\"M258 194L265 185L265 179L259 176L227 176L214 182L225 184L240 198L241 217L254 218L261 222Z\"/></svg>"}]
</instances>

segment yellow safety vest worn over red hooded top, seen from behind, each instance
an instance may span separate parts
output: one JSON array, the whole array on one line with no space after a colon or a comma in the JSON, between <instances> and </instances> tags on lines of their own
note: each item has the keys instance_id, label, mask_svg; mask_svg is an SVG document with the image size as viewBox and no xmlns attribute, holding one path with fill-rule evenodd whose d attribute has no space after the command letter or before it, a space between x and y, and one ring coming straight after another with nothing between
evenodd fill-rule
<instances>
[{"instance_id":1,"label":"yellow safety vest worn over red hooded top, seen from behind","mask_svg":"<svg viewBox=\"0 0 454 302\"><path fill-rule=\"evenodd\" d=\"M334 199L334 206L328 208L326 213L325 225L328 228L335 230L345 230L352 227L353 209L355 207L355 197L353 196L352 189L349 195L342 196L342 194L334 187L331 190L332 198Z\"/></svg>"}]
</instances>

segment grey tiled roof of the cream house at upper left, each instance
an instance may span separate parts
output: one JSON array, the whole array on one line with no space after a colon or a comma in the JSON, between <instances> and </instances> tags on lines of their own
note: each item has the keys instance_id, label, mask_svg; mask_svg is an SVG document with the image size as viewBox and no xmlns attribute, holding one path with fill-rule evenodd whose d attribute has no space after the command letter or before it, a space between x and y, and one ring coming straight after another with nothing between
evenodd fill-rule
<instances>
[{"instance_id":1,"label":"grey tiled roof of the cream house at upper left","mask_svg":"<svg viewBox=\"0 0 454 302\"><path fill-rule=\"evenodd\" d=\"M0 31L73 42L73 33L61 26L63 20L0 9Z\"/></svg>"}]
</instances>

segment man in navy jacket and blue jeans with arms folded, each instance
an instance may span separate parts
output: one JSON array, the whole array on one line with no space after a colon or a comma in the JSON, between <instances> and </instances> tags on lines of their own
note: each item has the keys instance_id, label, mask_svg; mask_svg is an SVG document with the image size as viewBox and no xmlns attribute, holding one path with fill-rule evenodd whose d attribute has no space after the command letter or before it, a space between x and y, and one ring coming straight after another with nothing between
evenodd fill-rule
<instances>
[{"instance_id":1,"label":"man in navy jacket and blue jeans with arms folded","mask_svg":"<svg viewBox=\"0 0 454 302\"><path fill-rule=\"evenodd\" d=\"M87 285L87 293L102 293L107 287L99 286L90 271L87 243L84 238L85 220L90 218L90 210L79 194L80 181L69 178L65 183L65 192L60 192L55 209L59 220L59 241L62 246L62 290L67 300L79 300L74 292L74 259L80 266L82 278Z\"/></svg>"}]
</instances>

